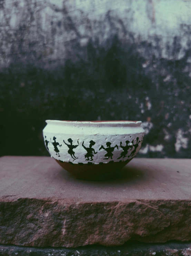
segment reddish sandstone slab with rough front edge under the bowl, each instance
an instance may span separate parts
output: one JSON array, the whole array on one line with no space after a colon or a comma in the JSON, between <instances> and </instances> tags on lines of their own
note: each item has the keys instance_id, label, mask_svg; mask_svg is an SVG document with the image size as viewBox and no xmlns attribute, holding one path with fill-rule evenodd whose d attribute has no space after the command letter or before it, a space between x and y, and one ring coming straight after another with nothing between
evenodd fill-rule
<instances>
[{"instance_id":1,"label":"reddish sandstone slab with rough front edge under the bowl","mask_svg":"<svg viewBox=\"0 0 191 256\"><path fill-rule=\"evenodd\" d=\"M49 157L0 158L0 243L78 247L191 240L191 160L133 159L74 179Z\"/></svg>"}]
</instances>

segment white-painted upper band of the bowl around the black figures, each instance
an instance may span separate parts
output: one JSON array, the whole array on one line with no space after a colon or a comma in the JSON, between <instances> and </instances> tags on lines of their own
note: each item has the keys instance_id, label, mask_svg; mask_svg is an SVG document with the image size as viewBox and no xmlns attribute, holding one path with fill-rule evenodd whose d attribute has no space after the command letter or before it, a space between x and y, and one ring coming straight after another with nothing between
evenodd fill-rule
<instances>
[{"instance_id":1,"label":"white-painted upper band of the bowl around the black figures","mask_svg":"<svg viewBox=\"0 0 191 256\"><path fill-rule=\"evenodd\" d=\"M134 157L141 148L141 143L144 136L144 130L140 126L141 121L75 122L47 120L46 122L47 125L43 130L43 136L44 141L49 141L48 148L51 156L57 160L73 162L73 164L78 164L79 162L83 164L87 164L88 162L99 164L100 162L108 163L110 161L118 162L120 160L129 160ZM45 136L47 138L45 138ZM56 137L56 140L53 140L54 136ZM71 142L68 142L69 138L72 139L72 145L77 146L76 148L69 150L68 145L71 145ZM138 142L140 141L138 147L136 146L137 138L139 138ZM66 145L63 140L68 145ZM120 146L120 142L122 142L122 146L126 146L125 141L127 140L130 141L128 143L128 146L131 147L129 148L126 155L124 150ZM132 144L133 140L133 144L135 145L135 147L137 147L136 149ZM57 145L57 148L59 150L57 154L56 151L54 151L54 145L52 144L55 141L58 142L59 145L61 145L61 147ZM83 141L86 148L90 147L90 141L94 141L95 144L93 143L94 145L92 145L92 148L97 153L95 154L94 152L92 152L90 154L87 154L87 150L82 146ZM111 143L110 147L115 147L115 145L117 145L118 149L117 147L115 147L112 152L109 152L109 155L105 156L107 154L107 151L105 151L103 148L100 149L100 147L103 145L105 149L108 149L109 147L107 147L106 145L107 142ZM72 153L72 151L74 152L74 155L71 156L70 153ZM135 153L132 154L132 151L135 151ZM58 153L60 157L58 156ZM91 155L93 156L91 157ZM77 159L75 157L77 157ZM93 160L91 160L91 158Z\"/></svg>"}]
</instances>

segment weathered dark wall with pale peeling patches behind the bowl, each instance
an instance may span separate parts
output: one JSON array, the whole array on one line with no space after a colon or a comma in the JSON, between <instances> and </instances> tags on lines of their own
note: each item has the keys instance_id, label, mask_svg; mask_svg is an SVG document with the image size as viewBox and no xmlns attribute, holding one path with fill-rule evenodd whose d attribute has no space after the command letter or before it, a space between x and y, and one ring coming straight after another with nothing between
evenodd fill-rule
<instances>
[{"instance_id":1,"label":"weathered dark wall with pale peeling patches behind the bowl","mask_svg":"<svg viewBox=\"0 0 191 256\"><path fill-rule=\"evenodd\" d=\"M0 0L0 155L45 120L141 120L139 157L191 157L191 2Z\"/></svg>"}]
</instances>

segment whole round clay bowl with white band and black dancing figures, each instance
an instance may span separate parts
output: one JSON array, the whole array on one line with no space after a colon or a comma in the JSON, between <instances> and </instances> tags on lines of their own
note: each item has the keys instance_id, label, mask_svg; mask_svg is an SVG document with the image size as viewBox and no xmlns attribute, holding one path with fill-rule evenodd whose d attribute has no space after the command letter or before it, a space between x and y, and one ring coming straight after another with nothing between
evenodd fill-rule
<instances>
[{"instance_id":1,"label":"whole round clay bowl with white band and black dancing figures","mask_svg":"<svg viewBox=\"0 0 191 256\"><path fill-rule=\"evenodd\" d=\"M79 179L109 178L135 157L144 136L141 121L46 123L43 136L47 150Z\"/></svg>"}]
</instances>

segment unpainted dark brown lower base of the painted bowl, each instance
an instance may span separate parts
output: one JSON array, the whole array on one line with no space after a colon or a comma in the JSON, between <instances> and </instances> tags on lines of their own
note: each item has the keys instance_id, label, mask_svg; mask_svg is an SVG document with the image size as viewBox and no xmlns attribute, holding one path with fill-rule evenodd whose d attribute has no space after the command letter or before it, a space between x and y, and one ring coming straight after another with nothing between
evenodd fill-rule
<instances>
[{"instance_id":1,"label":"unpainted dark brown lower base of the painted bowl","mask_svg":"<svg viewBox=\"0 0 191 256\"><path fill-rule=\"evenodd\" d=\"M57 160L57 163L65 170L71 173L77 179L85 180L107 180L114 179L120 175L120 169L128 164L132 159L120 162L110 161L109 163L93 164L88 162L87 164L79 163L73 164L72 162L63 162Z\"/></svg>"}]
</instances>

